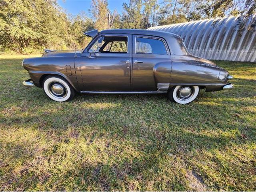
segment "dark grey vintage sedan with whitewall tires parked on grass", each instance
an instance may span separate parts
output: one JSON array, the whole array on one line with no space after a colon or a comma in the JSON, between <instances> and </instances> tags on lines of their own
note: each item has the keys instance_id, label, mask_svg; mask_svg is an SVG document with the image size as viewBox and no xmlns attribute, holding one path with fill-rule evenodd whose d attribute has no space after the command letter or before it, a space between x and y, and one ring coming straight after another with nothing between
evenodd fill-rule
<instances>
[{"instance_id":1,"label":"dark grey vintage sedan with whitewall tires parked on grass","mask_svg":"<svg viewBox=\"0 0 256 192\"><path fill-rule=\"evenodd\" d=\"M105 94L167 93L172 102L192 102L200 89L233 88L233 77L209 60L188 53L172 33L113 29L85 33L92 41L81 52L51 51L27 58L26 87L42 87L52 100L71 100L75 92Z\"/></svg>"}]
</instances>

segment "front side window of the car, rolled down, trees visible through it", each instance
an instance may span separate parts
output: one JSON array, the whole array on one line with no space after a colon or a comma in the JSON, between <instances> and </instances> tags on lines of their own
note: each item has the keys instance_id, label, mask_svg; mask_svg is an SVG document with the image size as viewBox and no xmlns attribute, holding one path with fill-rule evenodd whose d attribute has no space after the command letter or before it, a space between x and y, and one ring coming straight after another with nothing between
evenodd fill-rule
<instances>
[{"instance_id":1,"label":"front side window of the car, rolled down, trees visible through it","mask_svg":"<svg viewBox=\"0 0 256 192\"><path fill-rule=\"evenodd\" d=\"M127 36L102 36L94 42L89 52L100 53L127 53Z\"/></svg>"}]
</instances>

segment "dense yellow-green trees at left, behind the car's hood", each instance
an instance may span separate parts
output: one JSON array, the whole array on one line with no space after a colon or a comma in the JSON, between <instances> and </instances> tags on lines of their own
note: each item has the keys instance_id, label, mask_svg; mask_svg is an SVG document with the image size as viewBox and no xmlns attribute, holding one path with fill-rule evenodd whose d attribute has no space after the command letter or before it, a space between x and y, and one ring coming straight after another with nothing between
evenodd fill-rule
<instances>
[{"instance_id":1,"label":"dense yellow-green trees at left, behind the car's hood","mask_svg":"<svg viewBox=\"0 0 256 192\"><path fill-rule=\"evenodd\" d=\"M56 0L0 0L0 7L1 51L80 47L83 31L93 28L84 14L68 18Z\"/></svg>"}]
</instances>

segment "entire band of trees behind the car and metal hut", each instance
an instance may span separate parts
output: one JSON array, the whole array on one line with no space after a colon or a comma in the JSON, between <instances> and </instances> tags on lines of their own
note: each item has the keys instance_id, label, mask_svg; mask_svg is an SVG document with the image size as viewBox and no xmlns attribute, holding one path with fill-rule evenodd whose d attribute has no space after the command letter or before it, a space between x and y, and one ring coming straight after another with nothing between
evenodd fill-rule
<instances>
[{"instance_id":1,"label":"entire band of trees behind the car and metal hut","mask_svg":"<svg viewBox=\"0 0 256 192\"><path fill-rule=\"evenodd\" d=\"M227 15L242 17L243 30L256 13L256 0L129 0L124 12L108 9L108 0L92 0L90 16L68 15L57 0L0 0L0 52L34 53L44 48L84 48L84 31L110 28L146 29ZM252 28L256 25L252 23Z\"/></svg>"}]
</instances>

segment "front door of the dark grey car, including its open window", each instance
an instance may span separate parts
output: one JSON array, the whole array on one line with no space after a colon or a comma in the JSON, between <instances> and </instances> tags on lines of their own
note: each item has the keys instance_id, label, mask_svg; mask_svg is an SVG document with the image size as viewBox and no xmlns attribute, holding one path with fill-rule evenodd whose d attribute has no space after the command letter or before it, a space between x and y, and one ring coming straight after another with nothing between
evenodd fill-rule
<instances>
[{"instance_id":1,"label":"front door of the dark grey car, including its open window","mask_svg":"<svg viewBox=\"0 0 256 192\"><path fill-rule=\"evenodd\" d=\"M100 35L91 45L79 58L81 90L130 91L131 35Z\"/></svg>"}]
</instances>

